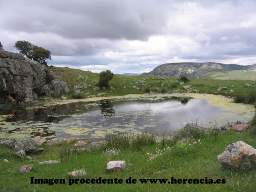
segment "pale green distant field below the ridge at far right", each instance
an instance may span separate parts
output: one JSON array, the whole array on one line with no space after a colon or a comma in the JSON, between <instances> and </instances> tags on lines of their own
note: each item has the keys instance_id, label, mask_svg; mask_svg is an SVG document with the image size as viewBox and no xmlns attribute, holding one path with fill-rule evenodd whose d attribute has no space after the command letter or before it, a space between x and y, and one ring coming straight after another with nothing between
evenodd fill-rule
<instances>
[{"instance_id":1,"label":"pale green distant field below the ridge at far right","mask_svg":"<svg viewBox=\"0 0 256 192\"><path fill-rule=\"evenodd\" d=\"M207 73L211 79L236 79L236 80L254 80L256 81L256 71L235 70L227 72Z\"/></svg>"}]
</instances>

